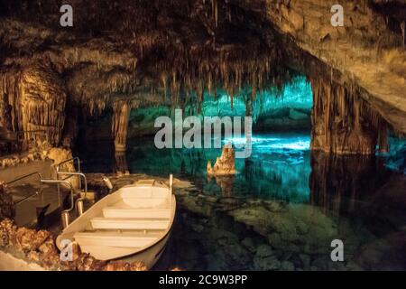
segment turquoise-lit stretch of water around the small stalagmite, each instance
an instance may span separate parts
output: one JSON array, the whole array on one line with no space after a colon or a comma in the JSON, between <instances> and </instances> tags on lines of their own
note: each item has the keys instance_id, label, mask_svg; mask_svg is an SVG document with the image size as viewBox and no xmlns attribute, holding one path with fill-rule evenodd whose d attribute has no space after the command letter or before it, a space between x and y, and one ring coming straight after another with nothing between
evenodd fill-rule
<instances>
[{"instance_id":1,"label":"turquoise-lit stretch of water around the small stalagmite","mask_svg":"<svg viewBox=\"0 0 406 289\"><path fill-rule=\"evenodd\" d=\"M223 140L223 144L241 143L241 139ZM250 195L263 199L295 202L309 200L309 134L254 135L249 159L235 159L233 177L208 179L208 161L216 162L221 149L154 148L151 138L131 140L127 153L130 172L188 179L206 194ZM228 183L221 189L221 183Z\"/></svg>"}]
</instances>

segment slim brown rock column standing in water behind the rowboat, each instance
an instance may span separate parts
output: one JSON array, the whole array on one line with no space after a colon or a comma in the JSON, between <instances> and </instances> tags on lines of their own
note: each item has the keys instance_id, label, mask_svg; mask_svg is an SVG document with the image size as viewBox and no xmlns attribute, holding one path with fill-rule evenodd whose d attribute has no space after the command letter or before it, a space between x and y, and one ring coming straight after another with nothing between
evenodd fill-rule
<instances>
[{"instance_id":1,"label":"slim brown rock column standing in water behind the rowboat","mask_svg":"<svg viewBox=\"0 0 406 289\"><path fill-rule=\"evenodd\" d=\"M127 100L116 101L113 104L112 135L115 140L115 151L126 150L128 119L131 106Z\"/></svg>"}]
</instances>

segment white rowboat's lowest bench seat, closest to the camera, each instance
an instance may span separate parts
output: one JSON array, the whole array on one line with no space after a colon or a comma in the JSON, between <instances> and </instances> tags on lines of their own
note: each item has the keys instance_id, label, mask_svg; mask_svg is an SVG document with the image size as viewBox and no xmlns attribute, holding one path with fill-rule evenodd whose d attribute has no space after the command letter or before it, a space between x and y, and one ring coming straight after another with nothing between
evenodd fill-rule
<instances>
[{"instance_id":1,"label":"white rowboat's lowest bench seat, closest to the camera","mask_svg":"<svg viewBox=\"0 0 406 289\"><path fill-rule=\"evenodd\" d=\"M161 232L119 232L117 230L77 232L73 238L82 246L145 247L161 236Z\"/></svg>"}]
</instances>

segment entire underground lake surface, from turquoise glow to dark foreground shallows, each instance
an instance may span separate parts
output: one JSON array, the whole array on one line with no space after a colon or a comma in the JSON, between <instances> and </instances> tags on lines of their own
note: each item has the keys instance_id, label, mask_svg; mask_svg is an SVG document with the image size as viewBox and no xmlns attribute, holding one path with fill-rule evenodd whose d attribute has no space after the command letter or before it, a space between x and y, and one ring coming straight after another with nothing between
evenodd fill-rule
<instances>
[{"instance_id":1,"label":"entire underground lake surface, from turquoise glow to dark foreground shallows","mask_svg":"<svg viewBox=\"0 0 406 289\"><path fill-rule=\"evenodd\" d=\"M125 155L102 143L79 155L85 172L173 173L192 183L177 190L156 269L406 270L404 143L383 156L340 157L312 153L309 142L309 133L254 134L238 173L211 179L206 166L220 149L158 150L153 136L128 140ZM343 241L343 262L330 258L334 239Z\"/></svg>"}]
</instances>

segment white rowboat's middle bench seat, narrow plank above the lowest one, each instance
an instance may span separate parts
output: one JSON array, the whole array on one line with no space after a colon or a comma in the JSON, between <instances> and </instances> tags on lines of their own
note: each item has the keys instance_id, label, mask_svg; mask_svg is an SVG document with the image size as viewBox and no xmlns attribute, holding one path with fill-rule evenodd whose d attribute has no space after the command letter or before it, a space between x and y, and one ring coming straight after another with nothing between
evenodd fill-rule
<instances>
[{"instance_id":1,"label":"white rowboat's middle bench seat, narrow plank above the lowest one","mask_svg":"<svg viewBox=\"0 0 406 289\"><path fill-rule=\"evenodd\" d=\"M170 219L129 219L129 218L94 218L90 220L95 229L166 229Z\"/></svg>"}]
</instances>

